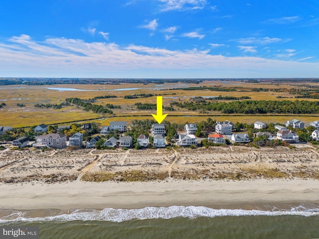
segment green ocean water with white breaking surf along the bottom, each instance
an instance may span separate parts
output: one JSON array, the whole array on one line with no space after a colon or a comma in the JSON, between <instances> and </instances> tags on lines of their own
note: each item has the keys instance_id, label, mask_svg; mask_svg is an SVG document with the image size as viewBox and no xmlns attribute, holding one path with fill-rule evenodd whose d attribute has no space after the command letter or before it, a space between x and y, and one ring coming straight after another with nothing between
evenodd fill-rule
<instances>
[{"instance_id":1,"label":"green ocean water with white breaking surf along the bottom","mask_svg":"<svg viewBox=\"0 0 319 239\"><path fill-rule=\"evenodd\" d=\"M0 210L0 225L38 226L40 239L310 239L319 238L319 207Z\"/></svg>"}]
</instances>

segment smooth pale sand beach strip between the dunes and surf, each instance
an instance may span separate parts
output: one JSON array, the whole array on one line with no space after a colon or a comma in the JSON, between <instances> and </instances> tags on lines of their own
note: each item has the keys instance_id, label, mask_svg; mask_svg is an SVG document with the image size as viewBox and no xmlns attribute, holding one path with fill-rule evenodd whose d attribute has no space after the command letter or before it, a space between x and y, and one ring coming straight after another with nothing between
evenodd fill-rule
<instances>
[{"instance_id":1,"label":"smooth pale sand beach strip between the dunes and surf","mask_svg":"<svg viewBox=\"0 0 319 239\"><path fill-rule=\"evenodd\" d=\"M318 180L303 179L1 183L0 209L102 210L205 206L215 209L267 210L270 205L289 208L303 203L319 204L318 195Z\"/></svg>"}]
</instances>

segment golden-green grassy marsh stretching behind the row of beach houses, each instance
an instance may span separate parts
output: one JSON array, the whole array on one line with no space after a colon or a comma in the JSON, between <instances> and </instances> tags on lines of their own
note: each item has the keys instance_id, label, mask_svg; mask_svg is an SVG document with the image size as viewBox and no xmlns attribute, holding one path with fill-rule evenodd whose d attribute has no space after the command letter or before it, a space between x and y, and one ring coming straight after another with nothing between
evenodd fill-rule
<instances>
[{"instance_id":1,"label":"golden-green grassy marsh stretching behind the row of beach houses","mask_svg":"<svg viewBox=\"0 0 319 239\"><path fill-rule=\"evenodd\" d=\"M163 95L163 106L169 106L173 101L190 101L192 97L208 97L208 96L249 96L252 100L280 100L277 97L288 97L283 100L295 100L293 95L287 92L217 92L217 91L184 91L184 90L167 90L167 88L176 87L192 87L192 86L222 86L222 87L244 87L244 88L300 88L305 89L303 84L271 84L271 83L243 83L243 82L225 82L225 81L204 81L200 84L120 84L120 85L48 85L48 86L1 86L0 103L5 103L6 106L0 108L0 125L13 127L32 126L40 123L53 124L69 121L81 121L98 119L104 116L83 111L76 106L63 107L59 110L35 108L35 104L60 104L66 98L89 99L96 96L115 95L118 98L99 99L94 104L106 105L113 104L121 106L121 109L112 109L114 118L107 118L103 125L110 121L128 121L133 119L153 119L151 114L156 114L156 110L139 111L134 105L137 102L156 104L156 96L139 99L124 99L126 95L133 94L156 94ZM311 84L309 84L311 85ZM82 91L58 91L47 88L75 88ZM130 88L143 88L135 90L125 90ZM164 90L159 90L164 89ZM123 90L116 90L123 89ZM166 90L165 90L166 89ZM115 91L114 91L115 90ZM299 99L303 100L303 99ZM316 99L307 99L316 101ZM24 104L25 107L18 107L16 104ZM255 121L281 122L284 123L290 119L300 119L304 122L310 122L319 119L319 115L224 115L218 112L208 112L207 115L199 111L185 111L184 109L176 109L174 112L163 112L168 114L166 120L176 123L196 122L206 120L208 117L218 121L231 120L232 122L247 122ZM109 117L109 116L108 116Z\"/></svg>"}]
</instances>

